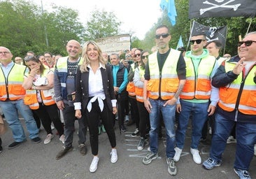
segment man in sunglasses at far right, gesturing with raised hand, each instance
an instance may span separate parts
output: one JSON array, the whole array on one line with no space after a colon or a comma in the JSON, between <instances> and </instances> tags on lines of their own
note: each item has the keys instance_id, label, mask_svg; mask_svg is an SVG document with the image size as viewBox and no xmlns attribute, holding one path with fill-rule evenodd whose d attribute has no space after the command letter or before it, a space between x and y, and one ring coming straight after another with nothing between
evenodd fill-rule
<instances>
[{"instance_id":1,"label":"man in sunglasses at far right, gesturing with raised hand","mask_svg":"<svg viewBox=\"0 0 256 179\"><path fill-rule=\"evenodd\" d=\"M238 56L222 63L212 84L220 88L220 101L215 113L215 133L205 169L220 166L227 138L236 123L236 159L234 171L239 178L248 173L256 143L256 31L238 43Z\"/></svg>"}]
</instances>

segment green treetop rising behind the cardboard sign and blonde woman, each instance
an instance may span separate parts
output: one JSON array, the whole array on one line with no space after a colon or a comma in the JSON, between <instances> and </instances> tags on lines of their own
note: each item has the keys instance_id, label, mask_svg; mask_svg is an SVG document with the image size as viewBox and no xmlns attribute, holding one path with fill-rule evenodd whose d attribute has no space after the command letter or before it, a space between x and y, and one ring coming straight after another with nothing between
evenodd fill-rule
<instances>
[{"instance_id":1,"label":"green treetop rising behind the cardboard sign and blonde woman","mask_svg":"<svg viewBox=\"0 0 256 179\"><path fill-rule=\"evenodd\" d=\"M113 12L108 13L105 10L94 10L85 27L85 39L94 40L97 38L118 35L121 24L122 22L118 20Z\"/></svg>"}]
</instances>

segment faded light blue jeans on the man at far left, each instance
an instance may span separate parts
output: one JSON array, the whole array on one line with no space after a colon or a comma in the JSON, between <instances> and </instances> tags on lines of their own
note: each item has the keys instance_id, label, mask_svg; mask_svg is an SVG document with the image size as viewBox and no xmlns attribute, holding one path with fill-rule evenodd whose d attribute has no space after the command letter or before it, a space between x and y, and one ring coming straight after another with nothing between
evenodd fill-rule
<instances>
[{"instance_id":1,"label":"faded light blue jeans on the man at far left","mask_svg":"<svg viewBox=\"0 0 256 179\"><path fill-rule=\"evenodd\" d=\"M29 106L24 105L23 99L16 101L0 101L0 107L3 110L6 122L8 122L10 129L13 131L14 141L22 142L26 140L18 112L24 118L27 131L29 131L29 138L38 137L38 128L36 127L36 121L34 120L33 113Z\"/></svg>"}]
</instances>

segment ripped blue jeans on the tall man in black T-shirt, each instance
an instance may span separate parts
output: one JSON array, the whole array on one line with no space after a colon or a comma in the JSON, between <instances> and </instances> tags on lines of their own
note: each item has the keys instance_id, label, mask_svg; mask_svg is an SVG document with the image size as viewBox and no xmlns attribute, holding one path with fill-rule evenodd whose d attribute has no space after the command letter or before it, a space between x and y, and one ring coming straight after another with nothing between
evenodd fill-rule
<instances>
[{"instance_id":1,"label":"ripped blue jeans on the tall man in black T-shirt","mask_svg":"<svg viewBox=\"0 0 256 179\"><path fill-rule=\"evenodd\" d=\"M157 153L158 150L158 127L160 122L160 111L162 112L166 129L166 157L173 158L175 155L175 110L176 105L163 106L166 101L161 99L149 99L151 103L150 113L150 150Z\"/></svg>"}]
</instances>

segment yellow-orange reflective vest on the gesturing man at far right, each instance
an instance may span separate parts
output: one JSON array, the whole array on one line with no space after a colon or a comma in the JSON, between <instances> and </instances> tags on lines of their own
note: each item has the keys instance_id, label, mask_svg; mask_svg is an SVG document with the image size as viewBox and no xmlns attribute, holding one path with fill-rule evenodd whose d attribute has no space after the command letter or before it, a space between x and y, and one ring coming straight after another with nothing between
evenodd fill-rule
<instances>
[{"instance_id":1,"label":"yellow-orange reflective vest on the gesturing man at far right","mask_svg":"<svg viewBox=\"0 0 256 179\"><path fill-rule=\"evenodd\" d=\"M225 71L232 71L236 64L225 62ZM236 103L239 103L238 110L246 115L256 115L256 85L253 82L255 77L256 66L248 72L245 79L244 86L241 85L243 81L243 74L239 76L231 84L220 87L220 101L218 106L223 110L235 110ZM238 98L239 91L242 90L241 97Z\"/></svg>"}]
</instances>

